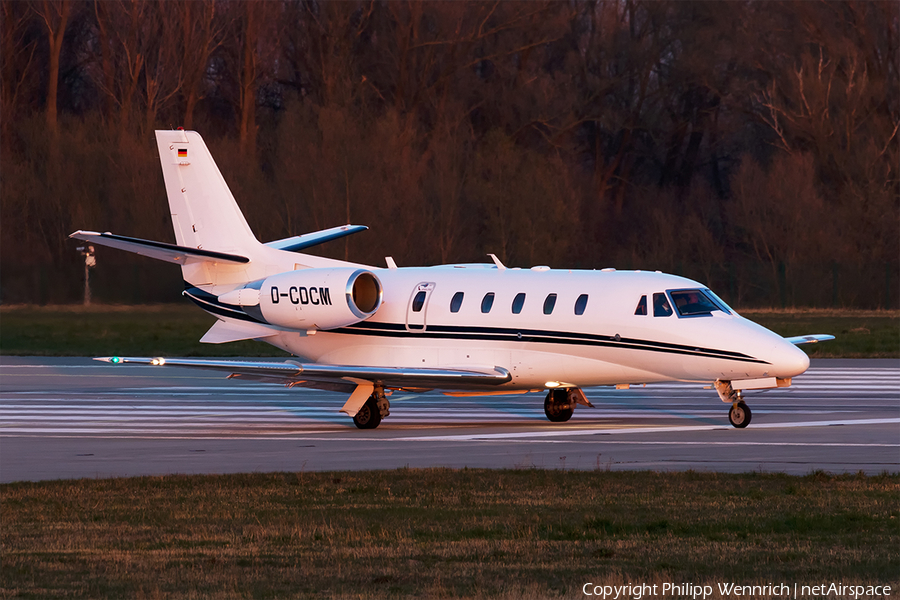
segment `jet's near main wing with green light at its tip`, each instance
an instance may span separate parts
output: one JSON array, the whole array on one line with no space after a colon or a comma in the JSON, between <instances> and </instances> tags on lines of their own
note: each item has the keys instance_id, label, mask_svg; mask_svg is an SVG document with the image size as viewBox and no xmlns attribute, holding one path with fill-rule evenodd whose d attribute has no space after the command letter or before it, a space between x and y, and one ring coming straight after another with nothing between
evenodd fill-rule
<instances>
[{"instance_id":1,"label":"jet's near main wing with green light at its tip","mask_svg":"<svg viewBox=\"0 0 900 600\"><path fill-rule=\"evenodd\" d=\"M306 364L295 361L256 362L193 358L136 358L107 356L95 358L112 364L211 369L229 377L263 379L330 390L353 390L361 381L379 382L394 389L458 389L467 386L500 385L512 379L502 367L479 369L422 369L417 367L362 367L354 365Z\"/></svg>"}]
</instances>

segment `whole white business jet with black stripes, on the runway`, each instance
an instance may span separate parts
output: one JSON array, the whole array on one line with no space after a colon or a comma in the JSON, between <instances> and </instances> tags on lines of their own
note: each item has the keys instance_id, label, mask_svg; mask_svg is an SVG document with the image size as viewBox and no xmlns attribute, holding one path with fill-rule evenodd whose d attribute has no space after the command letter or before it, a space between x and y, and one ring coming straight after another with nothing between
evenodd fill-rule
<instances>
[{"instance_id":1,"label":"whole white business jet with black stripes, on the runway","mask_svg":"<svg viewBox=\"0 0 900 600\"><path fill-rule=\"evenodd\" d=\"M744 390L785 387L809 366L797 344L739 316L706 286L643 271L492 264L387 268L304 254L366 229L347 225L260 243L203 139L157 131L176 244L112 233L73 238L181 265L184 294L217 321L200 340L259 340L296 358L227 361L107 357L216 369L230 377L349 393L361 429L388 416L394 390L491 395L548 390L553 422L591 407L587 386L712 384L735 427Z\"/></svg>"}]
</instances>

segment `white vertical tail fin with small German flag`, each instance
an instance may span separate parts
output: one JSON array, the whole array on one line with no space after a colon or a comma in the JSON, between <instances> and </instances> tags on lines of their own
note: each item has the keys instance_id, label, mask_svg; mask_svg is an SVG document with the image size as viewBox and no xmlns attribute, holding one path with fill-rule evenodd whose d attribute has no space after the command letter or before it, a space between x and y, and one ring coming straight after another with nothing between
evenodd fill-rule
<instances>
[{"instance_id":1,"label":"white vertical tail fin with small German flag","mask_svg":"<svg viewBox=\"0 0 900 600\"><path fill-rule=\"evenodd\" d=\"M195 131L157 131L175 240L180 246L250 255L260 245L203 138Z\"/></svg>"}]
</instances>

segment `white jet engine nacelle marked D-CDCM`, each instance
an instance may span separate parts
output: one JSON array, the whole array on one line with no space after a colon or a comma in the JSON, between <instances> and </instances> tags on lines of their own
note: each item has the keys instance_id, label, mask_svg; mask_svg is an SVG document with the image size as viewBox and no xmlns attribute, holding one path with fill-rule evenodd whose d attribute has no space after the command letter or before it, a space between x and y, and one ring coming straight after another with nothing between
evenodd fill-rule
<instances>
[{"instance_id":1,"label":"white jet engine nacelle marked D-CDCM","mask_svg":"<svg viewBox=\"0 0 900 600\"><path fill-rule=\"evenodd\" d=\"M291 329L336 329L381 306L381 282L364 269L302 269L267 277L259 308L267 323Z\"/></svg>"}]
</instances>

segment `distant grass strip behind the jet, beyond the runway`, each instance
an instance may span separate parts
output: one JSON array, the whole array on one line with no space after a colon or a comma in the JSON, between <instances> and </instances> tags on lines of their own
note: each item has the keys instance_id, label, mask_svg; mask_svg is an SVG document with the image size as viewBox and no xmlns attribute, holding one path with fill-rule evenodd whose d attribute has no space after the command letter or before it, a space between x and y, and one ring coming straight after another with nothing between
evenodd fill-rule
<instances>
[{"instance_id":1,"label":"distant grass strip behind the jet, beyond the runway","mask_svg":"<svg viewBox=\"0 0 900 600\"><path fill-rule=\"evenodd\" d=\"M900 358L900 311L766 310L742 315L783 336L830 333L813 358ZM30 356L287 356L260 342L201 344L215 319L191 304L0 307L0 352Z\"/></svg>"}]
</instances>

